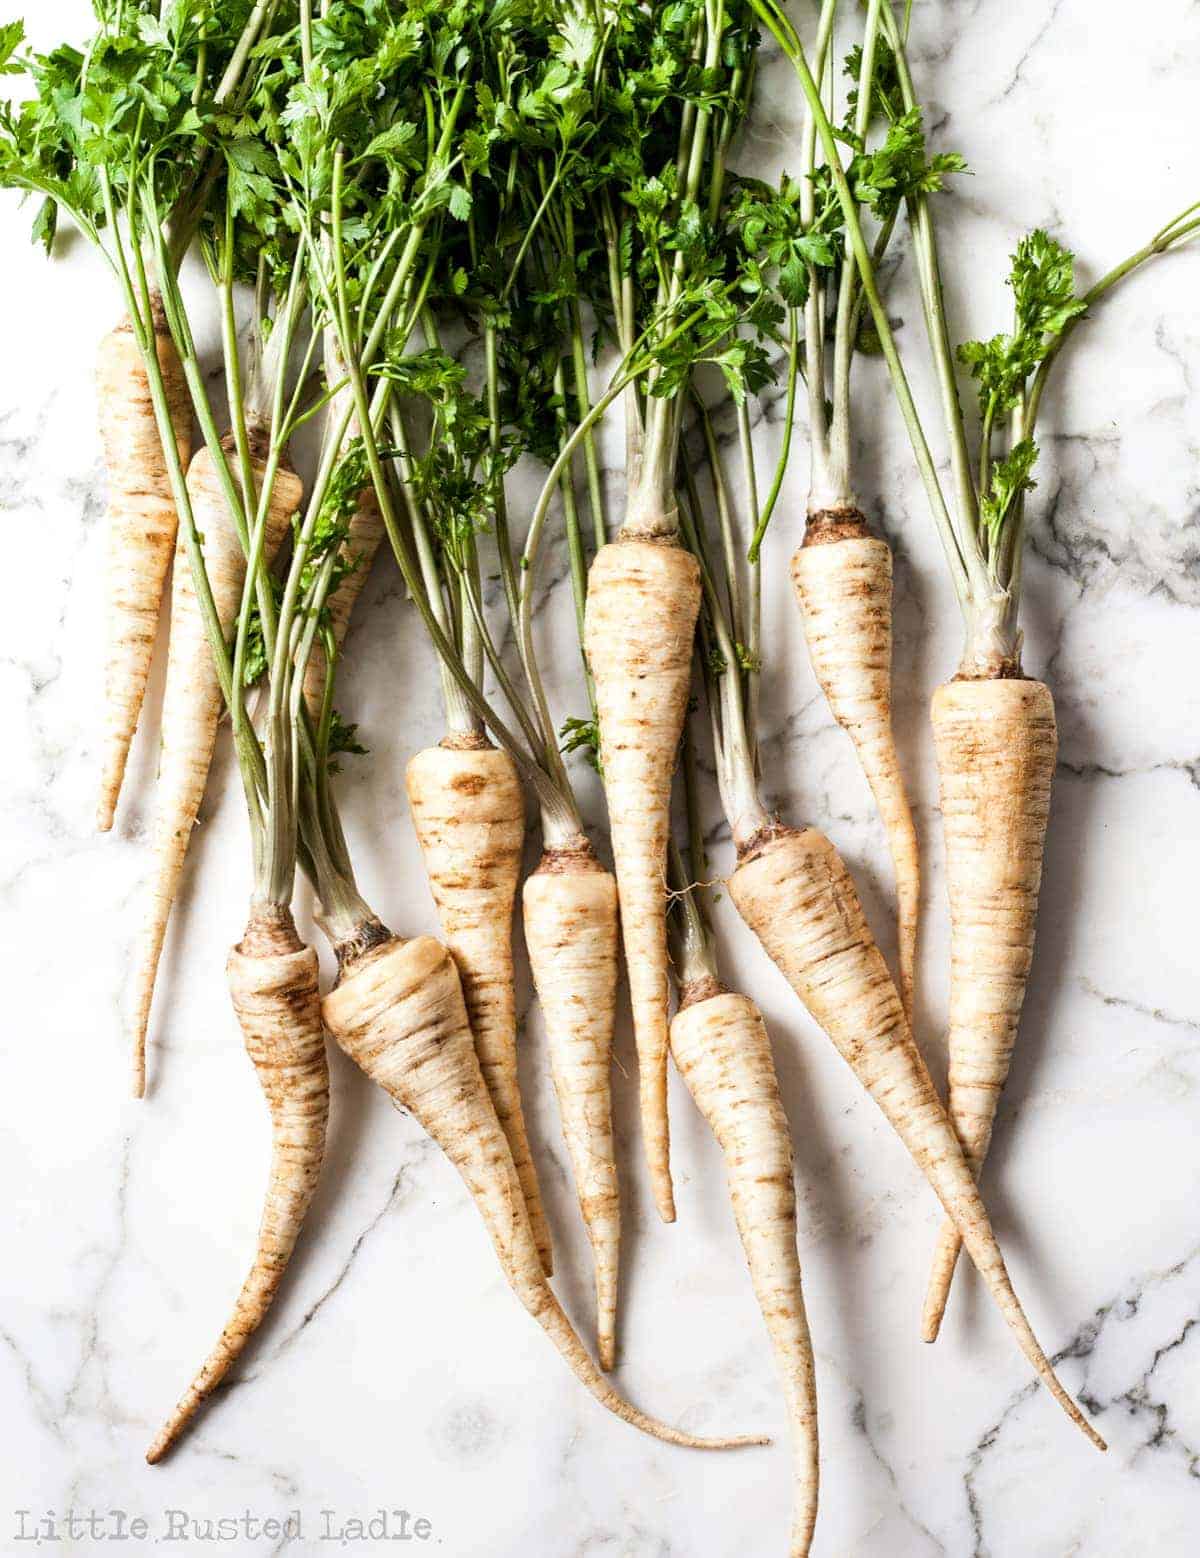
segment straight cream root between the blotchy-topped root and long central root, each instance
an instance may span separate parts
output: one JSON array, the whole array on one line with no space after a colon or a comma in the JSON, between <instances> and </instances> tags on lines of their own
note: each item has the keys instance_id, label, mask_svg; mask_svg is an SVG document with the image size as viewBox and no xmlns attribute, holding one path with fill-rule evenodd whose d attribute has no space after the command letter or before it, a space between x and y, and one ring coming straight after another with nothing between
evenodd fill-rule
<instances>
[{"instance_id":1,"label":"straight cream root between the blotchy-topped root and long central root","mask_svg":"<svg viewBox=\"0 0 1200 1558\"><path fill-rule=\"evenodd\" d=\"M591 849L549 851L522 890L525 947L595 1267L600 1366L616 1363L620 1193L612 1145L617 883Z\"/></svg>"}]
</instances>

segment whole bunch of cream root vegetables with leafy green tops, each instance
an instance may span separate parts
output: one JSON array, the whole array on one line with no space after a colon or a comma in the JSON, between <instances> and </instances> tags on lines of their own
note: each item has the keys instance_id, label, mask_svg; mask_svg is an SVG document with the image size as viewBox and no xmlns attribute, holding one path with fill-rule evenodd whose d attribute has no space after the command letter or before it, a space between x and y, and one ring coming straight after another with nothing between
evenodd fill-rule
<instances>
[{"instance_id":1,"label":"whole bunch of cream root vegetables with leafy green tops","mask_svg":"<svg viewBox=\"0 0 1200 1558\"><path fill-rule=\"evenodd\" d=\"M1041 232L1022 241L1013 332L958 351L980 391L972 460L930 199L963 164L926 148L909 17L884 0L870 0L865 20L845 19L857 36L838 125L832 87L821 90L837 0L821 5L807 53L775 0L95 9L81 50L26 56L19 26L0 37L5 69L33 89L0 118L0 181L39 198L48 249L58 221L75 223L125 310L98 374L111 534L101 827L115 816L175 553L154 860L131 991L134 1083L143 1092L156 971L224 709L251 840L229 986L274 1145L251 1271L150 1458L235 1363L284 1276L321 1170L326 1031L460 1168L517 1298L603 1405L675 1444L757 1443L701 1440L631 1407L549 1285L550 1228L517 1086L521 891L594 1251L600 1366L614 1365L619 1334L609 1073L623 939L655 1200L672 1221L670 1050L728 1165L793 1426L790 1550L809 1552L817 1388L792 1147L762 1017L722 985L695 885L708 868L690 735L687 863L670 841L694 687L737 854L732 902L946 1211L927 1335L966 1245L1025 1357L1102 1446L1029 1326L976 1186L1029 972L1055 749L1049 692L1021 670L1021 548L1052 361L1116 280L1200 226L1197 209L1083 296L1060 245ZM796 176L778 185L734 170L761 23L807 103ZM881 263L905 234L954 503L881 298ZM223 410L179 284L190 252L220 321ZM891 374L968 631L963 667L934 709L954 921L946 1108L912 1036L919 871L891 729L891 559L851 461L863 347L882 351ZM779 375L787 418L764 481L750 405ZM814 668L891 846L898 982L835 846L764 799L761 544L795 449L801 377L812 486L792 576ZM714 394L728 400L737 475ZM625 428L616 528L598 458L609 414ZM318 419L305 483L290 449ZM506 492L519 461L547 467L525 523ZM538 631L539 562L559 523L581 648L577 707L586 700L574 718L552 707ZM444 944L404 939L365 902L338 813L335 759L358 749L335 707L338 665L382 544L441 678L446 734L413 756L407 784ZM616 874L584 821L580 753L603 776ZM522 885L527 795L542 849ZM337 958L324 999L291 913L298 868Z\"/></svg>"}]
</instances>

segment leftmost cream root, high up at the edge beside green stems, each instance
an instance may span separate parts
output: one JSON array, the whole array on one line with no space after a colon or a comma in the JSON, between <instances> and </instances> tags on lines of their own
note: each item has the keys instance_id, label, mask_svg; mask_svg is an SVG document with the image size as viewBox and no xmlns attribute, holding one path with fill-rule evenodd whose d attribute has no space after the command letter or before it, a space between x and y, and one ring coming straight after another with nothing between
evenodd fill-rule
<instances>
[{"instance_id":1,"label":"leftmost cream root, high up at the edge beside green stems","mask_svg":"<svg viewBox=\"0 0 1200 1558\"><path fill-rule=\"evenodd\" d=\"M192 455L192 399L161 310L154 344L179 464L185 471ZM97 402L108 475L104 751L97 827L108 832L146 695L162 592L179 525L150 379L128 318L100 343Z\"/></svg>"}]
</instances>

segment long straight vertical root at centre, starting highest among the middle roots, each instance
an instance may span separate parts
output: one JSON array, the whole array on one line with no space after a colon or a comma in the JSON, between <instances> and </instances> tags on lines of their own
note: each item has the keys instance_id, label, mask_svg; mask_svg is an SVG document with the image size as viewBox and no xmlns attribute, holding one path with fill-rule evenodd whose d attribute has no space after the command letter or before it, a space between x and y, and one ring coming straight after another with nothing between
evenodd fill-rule
<instances>
[{"instance_id":1,"label":"long straight vertical root at centre, starting highest among the middle roots","mask_svg":"<svg viewBox=\"0 0 1200 1558\"><path fill-rule=\"evenodd\" d=\"M673 541L614 541L588 575L584 648L595 681L642 1137L655 1201L675 1220L667 1123L667 829L687 712L700 564Z\"/></svg>"}]
</instances>

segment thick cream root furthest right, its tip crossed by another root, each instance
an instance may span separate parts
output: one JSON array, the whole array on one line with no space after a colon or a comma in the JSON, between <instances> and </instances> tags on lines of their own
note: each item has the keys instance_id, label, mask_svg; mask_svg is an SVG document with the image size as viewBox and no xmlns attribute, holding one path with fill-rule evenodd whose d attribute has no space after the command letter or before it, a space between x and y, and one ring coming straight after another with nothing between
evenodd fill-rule
<instances>
[{"instance_id":1,"label":"thick cream root furthest right, its tip crossed by another root","mask_svg":"<svg viewBox=\"0 0 1200 1558\"><path fill-rule=\"evenodd\" d=\"M1039 681L954 681L934 693L934 748L951 899L946 1109L979 1170L1008 1080L1033 961L1041 862L1058 756ZM921 1329L937 1338L962 1242L938 1239Z\"/></svg>"}]
</instances>

